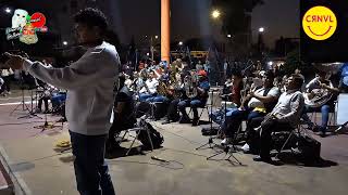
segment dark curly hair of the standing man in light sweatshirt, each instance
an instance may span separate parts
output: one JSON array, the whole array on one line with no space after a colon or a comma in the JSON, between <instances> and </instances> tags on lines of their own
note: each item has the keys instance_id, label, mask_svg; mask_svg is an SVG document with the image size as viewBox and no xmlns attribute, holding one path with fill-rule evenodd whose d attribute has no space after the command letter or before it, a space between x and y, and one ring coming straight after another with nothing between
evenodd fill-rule
<instances>
[{"instance_id":1,"label":"dark curly hair of the standing man in light sweatshirt","mask_svg":"<svg viewBox=\"0 0 348 195\"><path fill-rule=\"evenodd\" d=\"M105 15L98 9L87 8L74 15L75 23L86 24L89 27L97 26L103 32L108 30L108 21Z\"/></svg>"}]
</instances>

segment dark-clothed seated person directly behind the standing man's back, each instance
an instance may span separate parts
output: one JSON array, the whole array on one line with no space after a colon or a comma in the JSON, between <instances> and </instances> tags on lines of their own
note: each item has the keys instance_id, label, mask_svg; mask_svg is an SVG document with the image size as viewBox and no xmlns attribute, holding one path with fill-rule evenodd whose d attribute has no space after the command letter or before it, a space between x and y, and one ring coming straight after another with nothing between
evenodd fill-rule
<instances>
[{"instance_id":1,"label":"dark-clothed seated person directly behind the standing man's back","mask_svg":"<svg viewBox=\"0 0 348 195\"><path fill-rule=\"evenodd\" d=\"M114 120L109 130L109 138L107 141L107 152L113 152L120 147L116 136L122 130L130 129L136 122L134 109L135 103L133 100L133 92L125 86L126 76L121 75L119 92L114 103Z\"/></svg>"}]
</instances>

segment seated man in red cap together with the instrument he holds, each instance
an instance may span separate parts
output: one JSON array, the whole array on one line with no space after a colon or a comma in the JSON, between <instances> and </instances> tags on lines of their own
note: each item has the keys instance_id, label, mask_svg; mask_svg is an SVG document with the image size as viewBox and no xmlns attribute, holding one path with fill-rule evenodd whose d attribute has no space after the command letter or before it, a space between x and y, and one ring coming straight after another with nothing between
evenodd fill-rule
<instances>
[{"instance_id":1,"label":"seated man in red cap together with the instrument he holds","mask_svg":"<svg viewBox=\"0 0 348 195\"><path fill-rule=\"evenodd\" d=\"M177 104L178 110L182 113L182 117L179 119L181 123L189 123L190 119L186 113L186 107L190 107L194 113L192 126L198 126L199 117L198 117L198 107L204 106L207 100L209 98L208 91L210 89L210 83L208 81L207 72L199 70L198 72L198 80L191 77L191 80L185 83L187 100L181 101ZM187 94L187 93L191 93Z\"/></svg>"}]
</instances>

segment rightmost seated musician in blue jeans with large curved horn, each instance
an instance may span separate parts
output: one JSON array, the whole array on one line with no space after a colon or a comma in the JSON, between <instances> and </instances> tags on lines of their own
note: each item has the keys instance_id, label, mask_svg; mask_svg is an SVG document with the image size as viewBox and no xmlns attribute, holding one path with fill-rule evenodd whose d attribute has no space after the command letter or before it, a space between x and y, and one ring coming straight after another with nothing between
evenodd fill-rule
<instances>
[{"instance_id":1,"label":"rightmost seated musician in blue jeans with large curved horn","mask_svg":"<svg viewBox=\"0 0 348 195\"><path fill-rule=\"evenodd\" d=\"M333 83L328 79L326 79L326 72L318 70L318 77L315 77L306 86L306 100L308 100L311 103L309 105L306 105L303 110L304 114L302 115L302 119L304 120L304 122L308 123L309 129L312 129L313 131L320 131L321 136L326 135L328 113L334 109L334 101L336 100L337 94L339 93L339 90L337 88L334 88ZM320 94L322 95L320 98L324 102L322 102L323 105L316 106L314 100L316 99L315 96L321 92L324 92ZM306 103L308 102L306 101ZM314 123L309 119L307 113L311 112L321 112L321 126L314 126Z\"/></svg>"}]
</instances>

